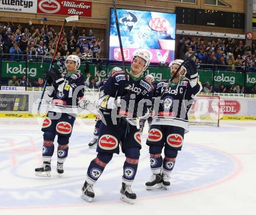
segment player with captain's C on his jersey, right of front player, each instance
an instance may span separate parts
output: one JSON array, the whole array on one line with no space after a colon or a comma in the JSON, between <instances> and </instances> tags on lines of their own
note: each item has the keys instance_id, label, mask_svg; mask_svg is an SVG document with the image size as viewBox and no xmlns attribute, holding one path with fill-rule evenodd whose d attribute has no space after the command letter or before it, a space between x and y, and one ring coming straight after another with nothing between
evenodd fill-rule
<instances>
[{"instance_id":1,"label":"player with captain's C on his jersey, right of front player","mask_svg":"<svg viewBox=\"0 0 256 215\"><path fill-rule=\"evenodd\" d=\"M170 185L170 173L178 151L182 150L184 133L189 129L187 113L195 95L202 90L194 61L186 62L172 82L162 80L155 90L155 97L161 100L155 100L155 115L147 139L153 173L150 181L145 183L147 190L167 188ZM172 76L182 63L183 60L174 60L170 63ZM163 148L164 158L161 156Z\"/></svg>"}]
</instances>

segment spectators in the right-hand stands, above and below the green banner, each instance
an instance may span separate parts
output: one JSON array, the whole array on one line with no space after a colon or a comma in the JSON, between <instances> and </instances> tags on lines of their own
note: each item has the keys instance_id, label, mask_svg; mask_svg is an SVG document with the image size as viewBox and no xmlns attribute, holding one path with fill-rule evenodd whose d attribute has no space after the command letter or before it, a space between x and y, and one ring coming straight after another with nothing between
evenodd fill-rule
<instances>
[{"instance_id":1,"label":"spectators in the right-hand stands, above and below the green banner","mask_svg":"<svg viewBox=\"0 0 256 215\"><path fill-rule=\"evenodd\" d=\"M204 38L185 37L179 39L177 58L186 59L193 52L193 60L201 70L256 72L256 44L246 45L242 40L217 38L205 41ZM219 85L214 88L209 82L204 83L203 92L212 93L255 93L255 88L244 86Z\"/></svg>"}]
</instances>

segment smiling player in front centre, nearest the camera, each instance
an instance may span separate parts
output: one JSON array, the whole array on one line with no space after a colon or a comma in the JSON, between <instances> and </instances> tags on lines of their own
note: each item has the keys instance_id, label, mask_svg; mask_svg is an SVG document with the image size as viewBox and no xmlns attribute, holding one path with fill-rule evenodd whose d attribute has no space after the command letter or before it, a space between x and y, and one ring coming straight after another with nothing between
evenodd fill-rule
<instances>
[{"instance_id":1,"label":"smiling player in front centre, nearest the camera","mask_svg":"<svg viewBox=\"0 0 256 215\"><path fill-rule=\"evenodd\" d=\"M119 154L119 143L126 156L123 164L121 199L133 203L136 194L131 184L136 176L140 157L141 140L136 117L149 113L144 100L151 101L151 84L143 76L150 64L150 54L139 50L133 56L130 72L116 72L104 86L104 96L99 99L102 123L99 127L97 157L87 169L86 181L81 197L91 202L94 198L93 185L101 176L114 153ZM118 112L118 115L116 115Z\"/></svg>"}]
</instances>

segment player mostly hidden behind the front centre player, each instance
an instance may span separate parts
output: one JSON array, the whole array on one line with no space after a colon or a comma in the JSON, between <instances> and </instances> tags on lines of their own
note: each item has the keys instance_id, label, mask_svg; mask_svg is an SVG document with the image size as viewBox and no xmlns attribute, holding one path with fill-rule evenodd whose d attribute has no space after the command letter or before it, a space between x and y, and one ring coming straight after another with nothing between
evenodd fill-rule
<instances>
[{"instance_id":1,"label":"player mostly hidden behind the front centre player","mask_svg":"<svg viewBox=\"0 0 256 215\"><path fill-rule=\"evenodd\" d=\"M120 67L114 67L112 68L111 72L110 72L110 76L115 74L115 72L120 72L122 71L122 69ZM99 97L104 96L103 95L103 86L105 85L106 81L108 81L108 78L105 78L101 84L99 85ZM99 125L101 125L101 116L97 115L96 116L96 123L95 123L95 127L94 127L94 133L93 133L93 140L90 141L90 143L88 144L89 148L93 148L97 146L97 142L98 142L98 137L99 137Z\"/></svg>"}]
</instances>

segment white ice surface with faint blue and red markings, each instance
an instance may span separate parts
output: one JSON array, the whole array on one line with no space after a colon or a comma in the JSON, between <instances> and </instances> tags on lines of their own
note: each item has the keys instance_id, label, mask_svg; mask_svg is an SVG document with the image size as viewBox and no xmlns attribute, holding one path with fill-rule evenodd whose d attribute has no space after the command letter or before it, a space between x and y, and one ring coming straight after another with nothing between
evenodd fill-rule
<instances>
[{"instance_id":1,"label":"white ice surface with faint blue and red markings","mask_svg":"<svg viewBox=\"0 0 256 215\"><path fill-rule=\"evenodd\" d=\"M256 122L191 127L169 190L145 190L151 172L144 132L132 186L134 205L119 199L123 154L113 157L94 185L94 201L80 198L87 167L96 156L95 149L88 148L93 130L94 121L77 119L65 173L59 177L55 171L55 144L52 176L41 178L34 176L34 168L41 166L41 122L0 118L0 214L256 214Z\"/></svg>"}]
</instances>

